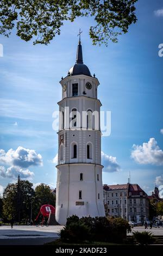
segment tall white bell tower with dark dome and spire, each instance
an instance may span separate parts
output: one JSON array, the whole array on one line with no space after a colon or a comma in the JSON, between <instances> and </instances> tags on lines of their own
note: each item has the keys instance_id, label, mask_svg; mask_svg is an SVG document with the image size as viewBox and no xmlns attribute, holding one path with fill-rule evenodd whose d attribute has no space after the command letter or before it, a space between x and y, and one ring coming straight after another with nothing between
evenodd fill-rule
<instances>
[{"instance_id":1,"label":"tall white bell tower with dark dome and spire","mask_svg":"<svg viewBox=\"0 0 163 256\"><path fill-rule=\"evenodd\" d=\"M105 216L99 82L83 64L80 38L76 64L60 84L55 218L64 225L72 215Z\"/></svg>"}]
</instances>

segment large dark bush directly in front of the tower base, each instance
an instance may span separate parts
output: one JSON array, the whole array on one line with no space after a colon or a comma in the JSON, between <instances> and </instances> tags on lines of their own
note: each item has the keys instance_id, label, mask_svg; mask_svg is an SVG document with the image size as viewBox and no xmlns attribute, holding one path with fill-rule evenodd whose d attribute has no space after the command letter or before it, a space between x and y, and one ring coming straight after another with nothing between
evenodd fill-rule
<instances>
[{"instance_id":1,"label":"large dark bush directly in front of the tower base","mask_svg":"<svg viewBox=\"0 0 163 256\"><path fill-rule=\"evenodd\" d=\"M67 218L66 226L60 231L62 241L123 242L130 225L122 218L79 217Z\"/></svg>"}]
</instances>

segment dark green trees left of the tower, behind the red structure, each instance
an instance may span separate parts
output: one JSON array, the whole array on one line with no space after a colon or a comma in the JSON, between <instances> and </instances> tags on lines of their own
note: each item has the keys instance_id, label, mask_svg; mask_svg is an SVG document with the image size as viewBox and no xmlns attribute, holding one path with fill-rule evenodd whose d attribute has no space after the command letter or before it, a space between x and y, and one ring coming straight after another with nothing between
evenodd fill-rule
<instances>
[{"instance_id":1,"label":"dark green trees left of the tower, behind the red structure","mask_svg":"<svg viewBox=\"0 0 163 256\"><path fill-rule=\"evenodd\" d=\"M55 206L55 196L51 188L46 184L40 184L33 189L33 184L28 180L18 178L16 184L8 184L3 193L3 217L4 220L22 221L30 219L32 209L32 219L36 218L40 207L43 204ZM1 199L0 199L1 216Z\"/></svg>"}]
</instances>

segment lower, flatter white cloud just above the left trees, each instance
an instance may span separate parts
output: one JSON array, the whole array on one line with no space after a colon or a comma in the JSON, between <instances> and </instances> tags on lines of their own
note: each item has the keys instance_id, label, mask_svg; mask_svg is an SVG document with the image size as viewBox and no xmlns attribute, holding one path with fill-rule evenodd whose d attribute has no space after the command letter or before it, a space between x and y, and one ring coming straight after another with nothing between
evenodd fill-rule
<instances>
[{"instance_id":1,"label":"lower, flatter white cloud just above the left trees","mask_svg":"<svg viewBox=\"0 0 163 256\"><path fill-rule=\"evenodd\" d=\"M0 166L0 176L3 178L12 178L15 179L20 175L22 179L29 179L34 176L33 172L30 172L29 169L22 169L18 166L10 166L5 169L4 166Z\"/></svg>"}]
</instances>

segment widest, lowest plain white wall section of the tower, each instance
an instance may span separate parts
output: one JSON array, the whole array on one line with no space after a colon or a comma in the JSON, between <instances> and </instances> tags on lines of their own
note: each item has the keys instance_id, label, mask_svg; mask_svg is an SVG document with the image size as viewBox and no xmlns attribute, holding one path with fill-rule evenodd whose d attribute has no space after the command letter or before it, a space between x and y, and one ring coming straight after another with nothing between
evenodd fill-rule
<instances>
[{"instance_id":1,"label":"widest, lowest plain white wall section of the tower","mask_svg":"<svg viewBox=\"0 0 163 256\"><path fill-rule=\"evenodd\" d=\"M65 224L66 218L71 215L79 217L105 216L102 166L86 163L61 164L57 166L57 169L55 218L60 224ZM83 173L82 181L80 180L80 173ZM82 199L79 199L79 191L82 191ZM76 202L84 202L84 205L76 205Z\"/></svg>"}]
</instances>

